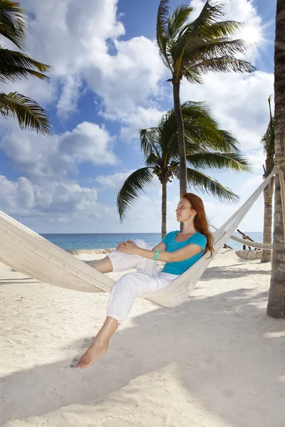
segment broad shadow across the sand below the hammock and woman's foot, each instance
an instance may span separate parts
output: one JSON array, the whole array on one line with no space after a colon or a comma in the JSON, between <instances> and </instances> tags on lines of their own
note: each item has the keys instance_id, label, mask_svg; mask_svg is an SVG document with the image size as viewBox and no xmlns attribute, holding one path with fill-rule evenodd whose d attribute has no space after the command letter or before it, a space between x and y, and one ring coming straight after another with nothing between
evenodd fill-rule
<instances>
[{"instance_id":1,"label":"broad shadow across the sand below the hammock and woman's foot","mask_svg":"<svg viewBox=\"0 0 285 427\"><path fill-rule=\"evenodd\" d=\"M86 371L70 365L73 355L79 357L91 337L83 343L73 342L70 359L2 379L7 401L12 390L19 393L16 401L6 401L1 425L71 404L94 404L138 376L176 364L187 392L222 419L241 426L244 413L243 424L249 426L246 416L251 413L254 423L250 427L281 426L279 422L285 419L285 382L281 381L285 337L274 337L284 330L285 322L266 317L257 307L266 297L266 292L252 295L252 290L240 289L147 312L133 319L135 327L115 334L108 354ZM156 342L150 347L153 334ZM266 419L269 412L271 426Z\"/></svg>"}]
</instances>

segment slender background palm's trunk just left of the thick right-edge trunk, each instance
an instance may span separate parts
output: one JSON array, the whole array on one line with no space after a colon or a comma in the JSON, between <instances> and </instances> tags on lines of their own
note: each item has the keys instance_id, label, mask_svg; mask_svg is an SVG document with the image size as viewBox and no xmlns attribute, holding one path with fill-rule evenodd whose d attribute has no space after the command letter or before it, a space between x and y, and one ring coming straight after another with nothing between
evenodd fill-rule
<instances>
[{"instance_id":1,"label":"slender background palm's trunk just left of the thick right-edge trunk","mask_svg":"<svg viewBox=\"0 0 285 427\"><path fill-rule=\"evenodd\" d=\"M266 176L269 176L274 168L274 159L268 157L266 159ZM264 189L264 225L263 225L263 243L272 243L272 198L274 191L274 177ZM270 263L272 259L272 251L264 249L261 255L261 263Z\"/></svg>"}]
</instances>

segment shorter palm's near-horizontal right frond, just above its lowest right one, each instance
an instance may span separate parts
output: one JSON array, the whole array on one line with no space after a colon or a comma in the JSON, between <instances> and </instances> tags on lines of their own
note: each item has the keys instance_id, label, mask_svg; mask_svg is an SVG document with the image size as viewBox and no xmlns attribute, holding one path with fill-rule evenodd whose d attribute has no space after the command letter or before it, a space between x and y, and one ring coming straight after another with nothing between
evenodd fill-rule
<instances>
[{"instance_id":1,"label":"shorter palm's near-horizontal right frond, just above its lowest right one","mask_svg":"<svg viewBox=\"0 0 285 427\"><path fill-rule=\"evenodd\" d=\"M186 157L191 167L198 169L224 169L234 172L252 172L248 160L237 153L195 153Z\"/></svg>"}]
</instances>

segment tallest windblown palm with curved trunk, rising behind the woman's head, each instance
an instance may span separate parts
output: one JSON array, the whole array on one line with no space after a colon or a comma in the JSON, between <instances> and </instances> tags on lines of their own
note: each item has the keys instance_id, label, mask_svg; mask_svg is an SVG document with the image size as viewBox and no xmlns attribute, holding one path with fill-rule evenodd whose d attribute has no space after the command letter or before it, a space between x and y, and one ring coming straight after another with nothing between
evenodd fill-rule
<instances>
[{"instance_id":1,"label":"tallest windblown palm with curved trunk, rising behind the woman's head","mask_svg":"<svg viewBox=\"0 0 285 427\"><path fill-rule=\"evenodd\" d=\"M247 46L242 40L233 40L234 33L244 27L237 21L219 21L224 16L223 6L206 1L195 21L189 23L192 7L177 6L170 16L169 0L161 0L157 12L157 45L163 63L170 70L175 117L177 120L180 157L180 194L187 191L185 130L180 107L180 83L202 83L202 74L209 71L251 73L255 68L236 58Z\"/></svg>"}]
</instances>

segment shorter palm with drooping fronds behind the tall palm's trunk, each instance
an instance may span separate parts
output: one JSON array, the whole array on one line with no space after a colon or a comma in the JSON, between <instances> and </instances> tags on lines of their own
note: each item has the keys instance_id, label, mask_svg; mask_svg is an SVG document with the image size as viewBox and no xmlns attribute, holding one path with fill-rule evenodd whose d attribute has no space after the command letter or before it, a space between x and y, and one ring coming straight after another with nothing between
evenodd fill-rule
<instances>
[{"instance_id":1,"label":"shorter palm with drooping fronds behind the tall palm's trunk","mask_svg":"<svg viewBox=\"0 0 285 427\"><path fill-rule=\"evenodd\" d=\"M204 102L185 102L181 108L189 186L202 193L211 194L220 201L238 201L236 194L204 172L205 169L249 172L249 163L240 154L237 139L229 132L219 129ZM163 115L157 127L142 129L139 133L146 167L136 170L125 180L117 197L118 212L122 221L126 211L156 175L162 184L161 232L164 237L167 182L180 177L175 110Z\"/></svg>"}]
</instances>

